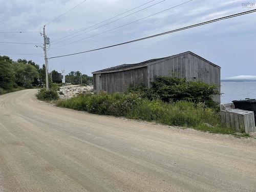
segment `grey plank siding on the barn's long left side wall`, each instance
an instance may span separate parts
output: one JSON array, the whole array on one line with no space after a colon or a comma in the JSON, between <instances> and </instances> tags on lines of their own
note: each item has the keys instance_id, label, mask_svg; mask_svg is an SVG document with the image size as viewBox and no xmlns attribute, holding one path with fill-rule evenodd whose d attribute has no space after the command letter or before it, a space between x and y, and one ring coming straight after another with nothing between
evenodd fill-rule
<instances>
[{"instance_id":1,"label":"grey plank siding on the barn's long left side wall","mask_svg":"<svg viewBox=\"0 0 256 192\"><path fill-rule=\"evenodd\" d=\"M147 66L133 70L126 70L113 73L93 74L96 82L94 83L94 92L105 91L107 93L122 93L134 84L139 86L143 83L147 86Z\"/></svg>"}]
</instances>

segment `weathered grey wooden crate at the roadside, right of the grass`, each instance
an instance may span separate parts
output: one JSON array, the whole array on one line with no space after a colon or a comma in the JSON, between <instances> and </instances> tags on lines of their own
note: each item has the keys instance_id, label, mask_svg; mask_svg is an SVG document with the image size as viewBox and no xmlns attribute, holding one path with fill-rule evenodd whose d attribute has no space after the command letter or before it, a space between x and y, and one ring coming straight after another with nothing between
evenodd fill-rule
<instances>
[{"instance_id":1,"label":"weathered grey wooden crate at the roadside, right of the grass","mask_svg":"<svg viewBox=\"0 0 256 192\"><path fill-rule=\"evenodd\" d=\"M254 112L252 111L240 109L221 110L221 124L236 132L250 133L256 131Z\"/></svg>"}]
</instances>

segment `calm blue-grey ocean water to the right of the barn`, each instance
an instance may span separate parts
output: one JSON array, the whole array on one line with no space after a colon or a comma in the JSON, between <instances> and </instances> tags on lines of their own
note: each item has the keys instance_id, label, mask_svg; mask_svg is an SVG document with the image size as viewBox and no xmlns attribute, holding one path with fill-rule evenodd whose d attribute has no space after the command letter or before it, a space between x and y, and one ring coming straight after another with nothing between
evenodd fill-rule
<instances>
[{"instance_id":1,"label":"calm blue-grey ocean water to the right of the barn","mask_svg":"<svg viewBox=\"0 0 256 192\"><path fill-rule=\"evenodd\" d=\"M256 81L222 81L221 103L245 98L256 99Z\"/></svg>"}]
</instances>

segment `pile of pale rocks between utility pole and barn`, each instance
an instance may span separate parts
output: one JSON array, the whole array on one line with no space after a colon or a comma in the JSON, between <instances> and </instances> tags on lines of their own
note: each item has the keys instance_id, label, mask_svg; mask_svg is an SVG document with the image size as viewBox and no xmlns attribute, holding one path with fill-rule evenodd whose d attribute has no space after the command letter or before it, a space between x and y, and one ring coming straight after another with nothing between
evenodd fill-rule
<instances>
[{"instance_id":1,"label":"pile of pale rocks between utility pole and barn","mask_svg":"<svg viewBox=\"0 0 256 192\"><path fill-rule=\"evenodd\" d=\"M93 93L93 86L74 86L74 87L60 87L58 91L59 98L71 98L82 93Z\"/></svg>"}]
</instances>

